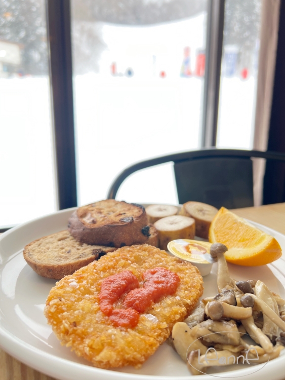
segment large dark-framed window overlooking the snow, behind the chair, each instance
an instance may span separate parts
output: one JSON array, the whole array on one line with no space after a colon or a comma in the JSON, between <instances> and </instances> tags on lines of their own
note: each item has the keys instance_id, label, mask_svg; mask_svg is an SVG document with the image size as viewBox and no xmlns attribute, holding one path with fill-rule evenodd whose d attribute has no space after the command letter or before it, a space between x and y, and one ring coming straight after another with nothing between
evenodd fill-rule
<instances>
[{"instance_id":1,"label":"large dark-framed window overlooking the snow, behind the chair","mask_svg":"<svg viewBox=\"0 0 285 380\"><path fill-rule=\"evenodd\" d=\"M219 147L251 148L262 4L0 0L0 226L75 206L76 191L61 202L76 188L75 170L77 203L84 204L105 198L126 166L200 148L209 133L210 145L217 137ZM54 59L60 34L70 55ZM213 41L221 47L214 58ZM70 108L66 128L58 90L71 108L73 99L74 125ZM74 153L74 145L76 168L60 151ZM172 165L148 170L118 197L177 202Z\"/></svg>"}]
</instances>

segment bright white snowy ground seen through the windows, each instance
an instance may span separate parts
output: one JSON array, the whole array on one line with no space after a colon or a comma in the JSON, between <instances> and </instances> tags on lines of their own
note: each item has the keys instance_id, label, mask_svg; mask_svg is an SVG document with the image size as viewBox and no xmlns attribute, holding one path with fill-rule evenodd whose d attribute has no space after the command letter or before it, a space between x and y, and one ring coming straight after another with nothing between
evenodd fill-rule
<instances>
[{"instance_id":1,"label":"bright white snowy ground seen through the windows","mask_svg":"<svg viewBox=\"0 0 285 380\"><path fill-rule=\"evenodd\" d=\"M78 77L77 170L80 204L102 199L132 163L199 145L202 81L100 81ZM251 148L254 79L223 79L219 146ZM0 225L56 209L48 81L0 80ZM172 165L144 170L119 199L177 202Z\"/></svg>"}]
</instances>

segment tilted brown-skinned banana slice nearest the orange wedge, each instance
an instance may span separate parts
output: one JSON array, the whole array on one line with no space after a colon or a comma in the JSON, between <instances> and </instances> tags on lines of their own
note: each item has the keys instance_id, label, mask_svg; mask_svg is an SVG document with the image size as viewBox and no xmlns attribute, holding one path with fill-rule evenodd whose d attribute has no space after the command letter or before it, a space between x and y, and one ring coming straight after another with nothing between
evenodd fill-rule
<instances>
[{"instance_id":1,"label":"tilted brown-skinned banana slice nearest the orange wedge","mask_svg":"<svg viewBox=\"0 0 285 380\"><path fill-rule=\"evenodd\" d=\"M199 238L209 238L209 228L218 209L201 202L186 202L181 207L179 215L189 216L195 219L195 235Z\"/></svg>"}]
</instances>

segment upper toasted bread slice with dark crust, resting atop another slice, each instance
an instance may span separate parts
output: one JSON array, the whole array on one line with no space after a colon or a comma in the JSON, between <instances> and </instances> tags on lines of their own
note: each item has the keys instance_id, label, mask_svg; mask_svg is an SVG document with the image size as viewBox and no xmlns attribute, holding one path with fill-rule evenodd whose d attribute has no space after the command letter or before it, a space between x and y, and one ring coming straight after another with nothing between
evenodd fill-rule
<instances>
[{"instance_id":1,"label":"upper toasted bread slice with dark crust, resting atop another slice","mask_svg":"<svg viewBox=\"0 0 285 380\"><path fill-rule=\"evenodd\" d=\"M68 222L76 240L110 247L146 243L149 229L143 206L114 199L79 207Z\"/></svg>"}]
</instances>

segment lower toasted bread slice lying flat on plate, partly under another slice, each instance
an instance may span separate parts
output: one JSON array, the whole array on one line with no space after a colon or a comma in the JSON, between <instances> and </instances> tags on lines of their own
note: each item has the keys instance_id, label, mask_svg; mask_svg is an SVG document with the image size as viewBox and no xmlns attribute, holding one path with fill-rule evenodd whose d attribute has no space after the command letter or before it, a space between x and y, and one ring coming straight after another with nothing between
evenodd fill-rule
<instances>
[{"instance_id":1,"label":"lower toasted bread slice lying flat on plate, partly under another slice","mask_svg":"<svg viewBox=\"0 0 285 380\"><path fill-rule=\"evenodd\" d=\"M34 240L24 248L24 258L40 276L62 279L98 260L113 247L77 242L67 230Z\"/></svg>"}]
</instances>

